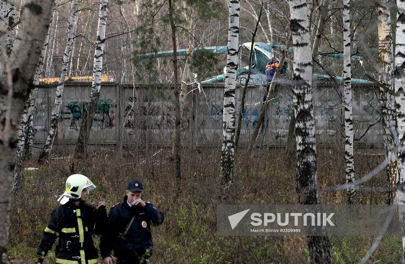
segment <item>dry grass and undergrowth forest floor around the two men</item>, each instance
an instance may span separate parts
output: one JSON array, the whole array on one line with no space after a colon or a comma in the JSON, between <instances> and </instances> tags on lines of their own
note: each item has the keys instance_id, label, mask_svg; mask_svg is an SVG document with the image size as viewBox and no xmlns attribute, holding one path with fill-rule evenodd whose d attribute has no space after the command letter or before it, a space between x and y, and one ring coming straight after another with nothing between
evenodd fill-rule
<instances>
[{"instance_id":1,"label":"dry grass and undergrowth forest floor around the two men","mask_svg":"<svg viewBox=\"0 0 405 264\"><path fill-rule=\"evenodd\" d=\"M156 152L158 154L154 155ZM384 160L377 149L359 149L355 154L356 177L363 177ZM227 201L218 199L220 149L182 150L182 179L177 184L175 163L169 149L133 150L118 153L102 150L76 163L75 173L89 177L97 188L88 203L105 198L107 207L121 202L129 180L144 183L144 200L165 213L165 222L153 231L156 264L253 264L309 263L306 237L224 237L216 234L217 204L296 204L294 161L286 160L281 148L266 149L251 156L238 150L235 178ZM56 199L64 191L71 161L51 159L36 165L26 161L23 187L12 201L9 264L35 263L36 249ZM325 191L325 186L345 183L344 153L318 148L318 186L323 204L345 204L345 191ZM364 186L386 186L385 170ZM384 192L358 192L360 204L384 204ZM98 239L98 238L96 238ZM375 237L330 237L335 263L357 263ZM384 237L368 263L399 263L401 237ZM53 250L45 264L54 263ZM99 259L101 261L101 259Z\"/></svg>"}]
</instances>

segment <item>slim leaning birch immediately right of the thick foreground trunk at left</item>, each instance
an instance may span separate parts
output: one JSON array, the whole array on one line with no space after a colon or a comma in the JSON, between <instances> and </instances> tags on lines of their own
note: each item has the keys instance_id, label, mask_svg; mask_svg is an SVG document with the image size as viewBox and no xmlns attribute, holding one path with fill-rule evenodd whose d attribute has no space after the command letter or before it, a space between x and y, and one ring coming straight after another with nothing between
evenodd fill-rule
<instances>
[{"instance_id":1,"label":"slim leaning birch immediately right of the thick foreground trunk at left","mask_svg":"<svg viewBox=\"0 0 405 264\"><path fill-rule=\"evenodd\" d=\"M56 7L53 8L53 11L51 14L51 21L53 18L53 14L55 13L55 8ZM21 183L22 163L23 163L24 150L26 149L25 142L27 141L27 137L31 137L28 140L32 141L32 112L34 111L34 103L35 103L35 99L36 99L36 93L38 91L38 87L36 87L36 86L39 84L40 74L44 67L50 28L51 27L49 25L48 33L45 36L45 43L42 47L42 51L39 56L38 65L36 67L36 72L35 72L35 77L34 77L34 86L35 87L34 87L34 89L31 90L30 97L28 98L28 101L24 108L23 117L22 117L21 123L20 123L20 130L18 132L18 143L17 143L16 154L15 154L15 167L14 167L14 176L13 176L13 195L17 194L18 189L20 187L20 183ZM28 151L30 151L30 150L28 150Z\"/></svg>"}]
</instances>

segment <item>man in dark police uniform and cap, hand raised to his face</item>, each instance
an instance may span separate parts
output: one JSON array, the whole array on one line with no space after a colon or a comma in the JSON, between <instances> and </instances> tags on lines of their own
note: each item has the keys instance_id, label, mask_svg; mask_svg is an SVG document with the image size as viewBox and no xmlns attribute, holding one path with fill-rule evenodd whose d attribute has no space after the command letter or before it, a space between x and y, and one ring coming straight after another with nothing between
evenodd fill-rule
<instances>
[{"instance_id":1,"label":"man in dark police uniform and cap, hand raised to his face","mask_svg":"<svg viewBox=\"0 0 405 264\"><path fill-rule=\"evenodd\" d=\"M162 224L164 215L151 203L142 201L142 194L141 181L131 180L124 202L112 207L108 213L109 232L100 240L104 264L112 264L111 250L117 257L117 264L144 264L152 255L151 226Z\"/></svg>"}]
</instances>

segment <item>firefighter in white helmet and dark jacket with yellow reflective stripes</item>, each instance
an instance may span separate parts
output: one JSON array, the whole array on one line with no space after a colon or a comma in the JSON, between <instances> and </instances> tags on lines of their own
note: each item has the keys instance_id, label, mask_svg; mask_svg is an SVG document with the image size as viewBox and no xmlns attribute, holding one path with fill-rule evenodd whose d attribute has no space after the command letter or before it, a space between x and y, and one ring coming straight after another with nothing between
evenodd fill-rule
<instances>
[{"instance_id":1,"label":"firefighter in white helmet and dark jacket with yellow reflective stripes","mask_svg":"<svg viewBox=\"0 0 405 264\"><path fill-rule=\"evenodd\" d=\"M62 205L51 213L38 247L38 264L41 264L56 238L55 262L58 264L97 264L97 247L92 234L102 234L107 229L108 218L105 201L98 209L85 203L89 191L96 188L84 175L73 174L66 180L66 190L59 197Z\"/></svg>"}]
</instances>

